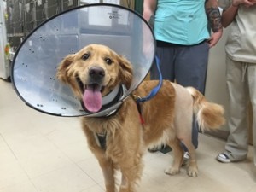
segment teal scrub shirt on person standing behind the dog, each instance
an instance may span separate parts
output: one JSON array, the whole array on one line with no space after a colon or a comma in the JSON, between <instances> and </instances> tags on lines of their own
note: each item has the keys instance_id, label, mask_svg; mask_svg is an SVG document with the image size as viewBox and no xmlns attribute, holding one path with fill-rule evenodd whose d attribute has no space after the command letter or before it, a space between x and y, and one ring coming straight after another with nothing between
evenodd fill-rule
<instances>
[{"instance_id":1,"label":"teal scrub shirt on person standing behind the dog","mask_svg":"<svg viewBox=\"0 0 256 192\"><path fill-rule=\"evenodd\" d=\"M205 0L158 0L154 35L156 40L182 45L209 38Z\"/></svg>"}]
</instances>

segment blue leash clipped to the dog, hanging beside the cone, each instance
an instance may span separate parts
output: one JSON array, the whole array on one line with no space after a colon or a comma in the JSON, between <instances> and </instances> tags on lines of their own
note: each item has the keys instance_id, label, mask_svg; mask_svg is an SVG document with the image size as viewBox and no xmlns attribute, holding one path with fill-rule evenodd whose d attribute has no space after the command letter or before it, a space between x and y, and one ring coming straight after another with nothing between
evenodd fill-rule
<instances>
[{"instance_id":1,"label":"blue leash clipped to the dog, hanging beside the cone","mask_svg":"<svg viewBox=\"0 0 256 192\"><path fill-rule=\"evenodd\" d=\"M150 93L148 94L148 96L145 96L143 98L137 98L137 103L139 102L147 102L149 99L152 99L160 90L160 87L163 84L163 77L162 77L162 73L160 71L160 59L158 58L158 56L155 56L155 64L159 73L159 83L157 86L154 87L153 90L150 91Z\"/></svg>"}]
</instances>

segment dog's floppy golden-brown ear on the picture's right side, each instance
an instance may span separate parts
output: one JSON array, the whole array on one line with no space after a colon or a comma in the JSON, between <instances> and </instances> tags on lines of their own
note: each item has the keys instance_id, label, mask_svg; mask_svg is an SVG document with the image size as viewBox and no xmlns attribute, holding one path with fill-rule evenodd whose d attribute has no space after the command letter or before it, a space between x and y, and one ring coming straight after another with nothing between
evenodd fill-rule
<instances>
[{"instance_id":1,"label":"dog's floppy golden-brown ear on the picture's right side","mask_svg":"<svg viewBox=\"0 0 256 192\"><path fill-rule=\"evenodd\" d=\"M124 56L119 56L119 79L129 89L132 81L132 66Z\"/></svg>"}]
</instances>

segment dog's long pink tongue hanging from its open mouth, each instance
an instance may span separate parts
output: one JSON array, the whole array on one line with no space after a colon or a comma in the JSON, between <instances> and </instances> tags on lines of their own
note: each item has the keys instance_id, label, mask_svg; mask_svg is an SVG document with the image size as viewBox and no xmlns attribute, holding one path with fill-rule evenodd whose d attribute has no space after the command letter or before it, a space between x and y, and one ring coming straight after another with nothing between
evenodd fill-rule
<instances>
[{"instance_id":1,"label":"dog's long pink tongue hanging from its open mouth","mask_svg":"<svg viewBox=\"0 0 256 192\"><path fill-rule=\"evenodd\" d=\"M88 87L84 91L83 102L88 111L98 112L102 108L101 90Z\"/></svg>"}]
</instances>

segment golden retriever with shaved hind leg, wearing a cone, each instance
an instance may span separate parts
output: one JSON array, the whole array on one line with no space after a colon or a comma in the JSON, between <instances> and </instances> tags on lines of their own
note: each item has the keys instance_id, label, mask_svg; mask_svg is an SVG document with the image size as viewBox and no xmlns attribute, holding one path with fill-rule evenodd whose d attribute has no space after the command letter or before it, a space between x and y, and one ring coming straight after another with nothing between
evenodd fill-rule
<instances>
[{"instance_id":1,"label":"golden retriever with shaved hind leg, wearing a cone","mask_svg":"<svg viewBox=\"0 0 256 192\"><path fill-rule=\"evenodd\" d=\"M129 89L132 71L131 63L122 55L107 46L90 44L61 61L57 78L72 88L84 110L96 113L102 108L102 98L116 86L123 84ZM198 168L191 143L193 113L202 131L217 129L224 124L222 106L207 102L192 87L184 88L167 80L163 81L156 96L139 104L139 113L136 98L147 96L157 84L157 80L143 81L110 115L82 117L83 131L102 168L107 192L117 191L114 173L118 169L122 175L119 191L136 191L143 172L143 154L147 148L161 144L169 145L174 155L166 174L174 175L180 171L182 142L190 154L188 175L196 177Z\"/></svg>"}]
</instances>

